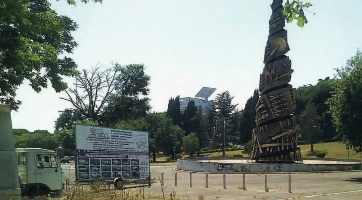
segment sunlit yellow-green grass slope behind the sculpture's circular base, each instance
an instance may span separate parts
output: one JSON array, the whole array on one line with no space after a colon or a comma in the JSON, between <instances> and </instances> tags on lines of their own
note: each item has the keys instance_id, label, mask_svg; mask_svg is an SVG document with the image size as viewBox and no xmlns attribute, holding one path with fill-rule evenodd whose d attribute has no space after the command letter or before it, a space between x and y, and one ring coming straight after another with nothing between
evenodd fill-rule
<instances>
[{"instance_id":1,"label":"sunlit yellow-green grass slope behind the sculpture's circular base","mask_svg":"<svg viewBox=\"0 0 362 200\"><path fill-rule=\"evenodd\" d=\"M311 145L300 145L301 153L303 157L306 157L307 152L310 150ZM349 156L348 156L348 150L346 149L346 145L343 142L330 142L330 143L318 143L314 144L314 151L325 151L327 155L325 158L343 158L343 159L361 159L362 154L355 153L352 149L349 150ZM200 156L209 156L209 157L219 157L222 156L222 151L220 153L201 153ZM235 157L235 156L243 156L248 157L248 154L242 153L240 150L236 151L226 151L227 157ZM180 154L178 154L178 157L180 158ZM182 158L189 157L188 154L182 154ZM315 156L313 156L315 157ZM177 161L170 161L171 157L160 157L156 158L156 163L152 163L151 165L160 165L162 164L170 164L170 163L176 163Z\"/></svg>"}]
</instances>

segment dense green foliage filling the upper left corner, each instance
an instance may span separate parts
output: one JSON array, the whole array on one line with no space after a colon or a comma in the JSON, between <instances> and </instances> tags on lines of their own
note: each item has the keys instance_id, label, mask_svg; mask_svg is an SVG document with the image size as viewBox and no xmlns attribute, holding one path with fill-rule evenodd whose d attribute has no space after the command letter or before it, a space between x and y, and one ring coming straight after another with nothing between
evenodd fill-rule
<instances>
[{"instance_id":1,"label":"dense green foliage filling the upper left corner","mask_svg":"<svg viewBox=\"0 0 362 200\"><path fill-rule=\"evenodd\" d=\"M63 53L77 46L71 33L78 25L58 15L47 0L4 0L0 5L0 103L17 110L17 88L28 80L36 92L67 88L62 76L75 76L76 64Z\"/></svg>"}]
</instances>

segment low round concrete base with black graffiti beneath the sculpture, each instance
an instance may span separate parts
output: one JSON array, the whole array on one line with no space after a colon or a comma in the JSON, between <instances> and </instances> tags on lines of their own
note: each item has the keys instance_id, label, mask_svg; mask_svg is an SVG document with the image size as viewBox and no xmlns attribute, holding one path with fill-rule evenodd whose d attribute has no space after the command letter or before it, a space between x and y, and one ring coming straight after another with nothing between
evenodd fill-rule
<instances>
[{"instance_id":1,"label":"low round concrete base with black graffiti beneath the sculpture","mask_svg":"<svg viewBox=\"0 0 362 200\"><path fill-rule=\"evenodd\" d=\"M269 164L251 163L246 158L189 158L177 160L178 170L194 172L238 172L238 173L280 173L280 172L325 172L362 170L362 161L347 159L306 158L303 163Z\"/></svg>"}]
</instances>

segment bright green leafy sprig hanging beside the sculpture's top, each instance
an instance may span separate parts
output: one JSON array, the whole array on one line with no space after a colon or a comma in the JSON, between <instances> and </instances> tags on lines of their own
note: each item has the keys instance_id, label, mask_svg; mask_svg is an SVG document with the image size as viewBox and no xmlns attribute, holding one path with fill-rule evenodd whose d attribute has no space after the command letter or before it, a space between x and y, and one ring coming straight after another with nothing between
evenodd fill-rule
<instances>
[{"instance_id":1,"label":"bright green leafy sprig hanging beside the sculpture's top","mask_svg":"<svg viewBox=\"0 0 362 200\"><path fill-rule=\"evenodd\" d=\"M285 20L287 23L293 22L293 20L297 20L297 25L299 27L303 27L304 24L308 23L307 17L304 15L304 9L311 7L311 3L303 3L303 1L294 0L292 2L285 3L283 7L283 13L285 15ZM315 13L313 13L315 14Z\"/></svg>"}]
</instances>

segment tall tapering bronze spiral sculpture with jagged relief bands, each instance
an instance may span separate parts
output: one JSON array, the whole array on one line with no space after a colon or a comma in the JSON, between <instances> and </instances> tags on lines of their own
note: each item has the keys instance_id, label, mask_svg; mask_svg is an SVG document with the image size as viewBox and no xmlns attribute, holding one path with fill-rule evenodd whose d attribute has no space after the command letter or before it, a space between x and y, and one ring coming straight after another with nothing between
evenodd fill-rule
<instances>
[{"instance_id":1,"label":"tall tapering bronze spiral sculpture with jagged relief bands","mask_svg":"<svg viewBox=\"0 0 362 200\"><path fill-rule=\"evenodd\" d=\"M255 107L253 130L255 162L294 163L302 161L298 147L299 125L296 124L294 89L289 84L291 61L283 14L283 1L273 0L269 36L265 47L264 69L260 75L260 97Z\"/></svg>"}]
</instances>

